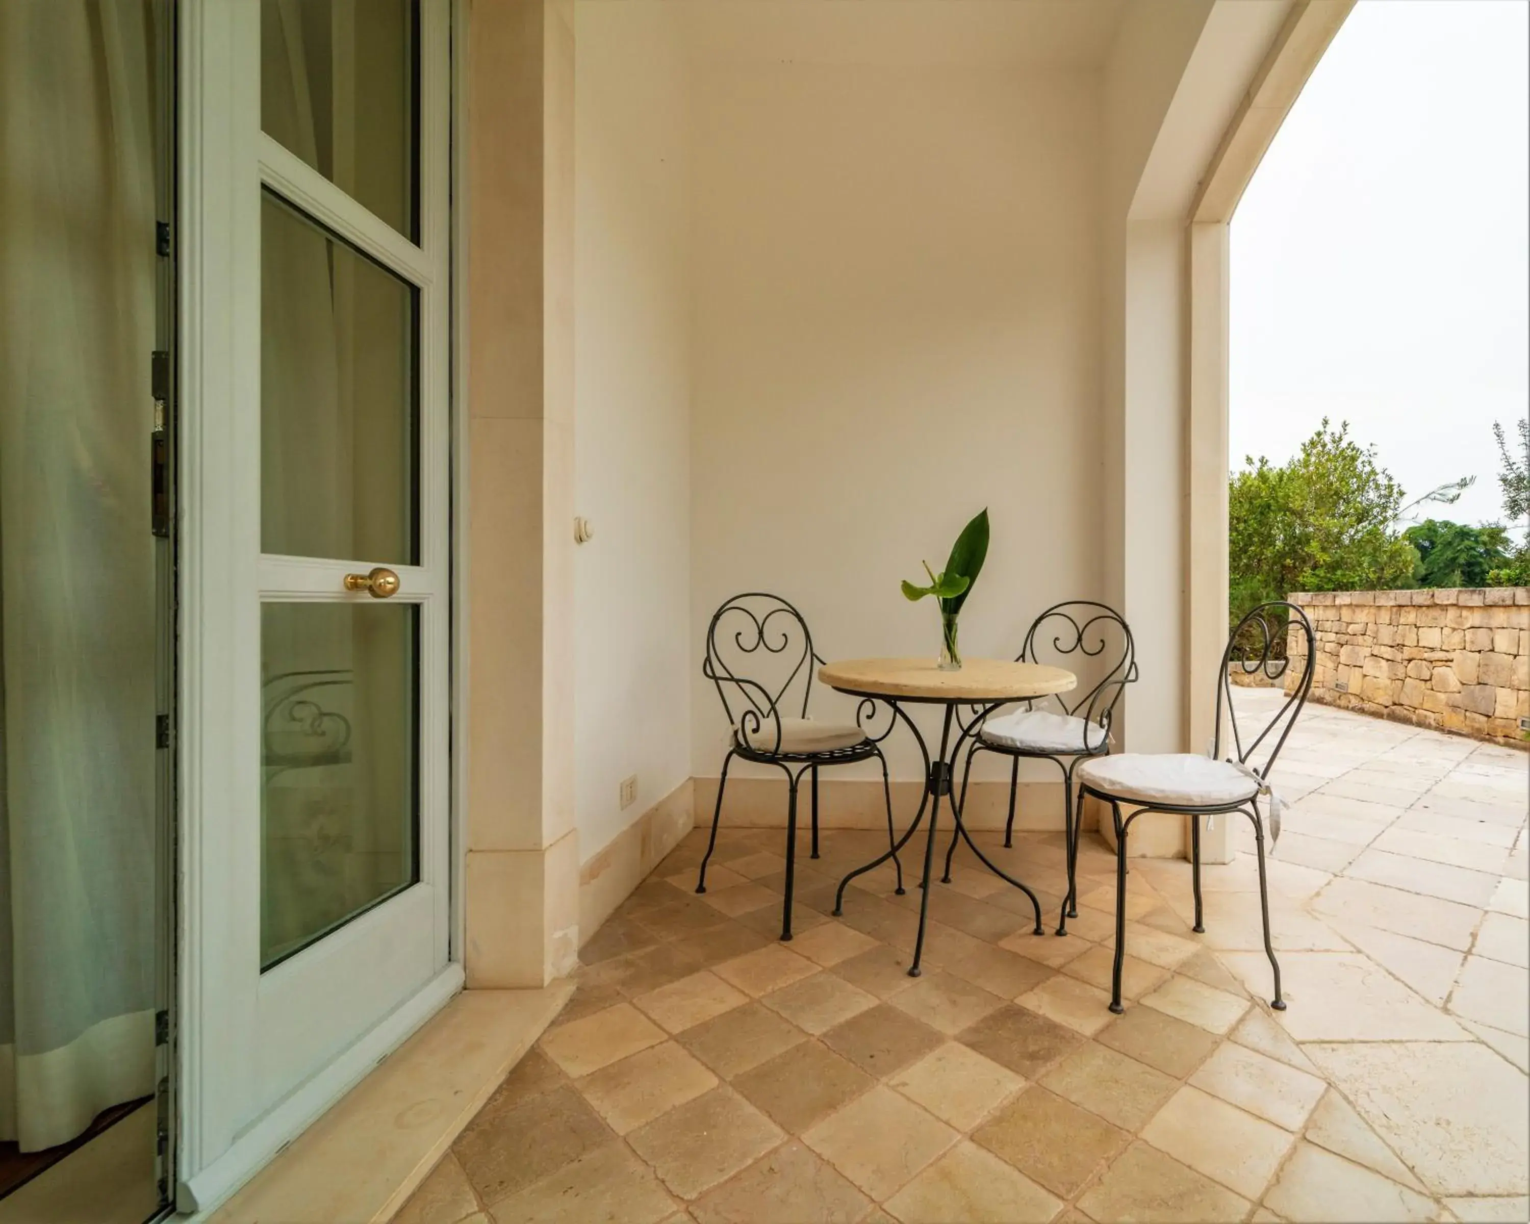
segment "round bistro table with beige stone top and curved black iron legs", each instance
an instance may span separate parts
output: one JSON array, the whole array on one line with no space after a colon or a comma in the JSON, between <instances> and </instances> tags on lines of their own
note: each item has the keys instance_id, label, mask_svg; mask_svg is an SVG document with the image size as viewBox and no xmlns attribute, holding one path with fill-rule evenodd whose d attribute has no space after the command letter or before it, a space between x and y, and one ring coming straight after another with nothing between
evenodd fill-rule
<instances>
[{"instance_id":1,"label":"round bistro table with beige stone top and curved black iron legs","mask_svg":"<svg viewBox=\"0 0 1530 1224\"><path fill-rule=\"evenodd\" d=\"M886 702L892 708L894 719L903 719L913 733L926 767L924 794L920 799L920 811L913 817L913 823L909 825L909 831L886 854L863 868L857 868L840 881L838 892L834 895L835 916L838 916L840 907L845 903L845 887L851 880L880 868L903 849L924 820L924 809L927 806L930 809L930 831L924 843L924 883L920 886L923 889L923 895L920 897L920 933L913 942L913 964L909 967L910 978L920 976L920 958L924 953L924 923L930 907L930 861L935 857L935 825L939 815L941 796L946 796L952 809L952 819L956 822L956 831L965 838L973 854L982 860L982 864L988 871L1031 898L1031 904L1036 907L1036 933L1045 933L1042 927L1042 903L1036 898L1036 894L1013 875L1007 875L990 863L988 857L978 849L967 828L962 825L961 809L955 799L952 799L952 774L962 745L978 733L982 721L993 710L1011 701L1025 701L1027 698L1040 698L1050 693L1066 693L1079 682L1079 678L1062 667L1042 667L1034 662L1010 662L1008 659L965 659L959 669L950 672L942 672L933 659L849 659L846 662L825 664L819 669L819 679L849 696ZM924 736L920 734L920 728L904 711L904 705L946 707L946 718L941 724L941 751L933 760L930 760ZM970 719L958 716L956 707L959 705L972 707ZM959 727L955 744L952 742L953 721Z\"/></svg>"}]
</instances>

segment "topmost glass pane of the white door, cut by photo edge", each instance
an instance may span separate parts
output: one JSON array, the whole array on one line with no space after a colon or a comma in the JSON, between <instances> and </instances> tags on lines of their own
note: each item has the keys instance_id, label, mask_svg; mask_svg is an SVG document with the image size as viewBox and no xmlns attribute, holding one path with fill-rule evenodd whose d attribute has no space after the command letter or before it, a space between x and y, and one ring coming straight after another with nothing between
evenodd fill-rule
<instances>
[{"instance_id":1,"label":"topmost glass pane of the white door, cut by photo edge","mask_svg":"<svg viewBox=\"0 0 1530 1224\"><path fill-rule=\"evenodd\" d=\"M418 242L418 0L262 0L260 125Z\"/></svg>"}]
</instances>

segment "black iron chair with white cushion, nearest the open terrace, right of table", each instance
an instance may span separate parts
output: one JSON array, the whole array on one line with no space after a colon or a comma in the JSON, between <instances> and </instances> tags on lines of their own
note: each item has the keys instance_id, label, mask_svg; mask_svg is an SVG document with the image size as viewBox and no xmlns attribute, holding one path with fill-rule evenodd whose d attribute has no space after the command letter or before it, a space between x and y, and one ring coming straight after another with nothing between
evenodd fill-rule
<instances>
[{"instance_id":1,"label":"black iron chair with white cushion, nearest the open terrace, right of table","mask_svg":"<svg viewBox=\"0 0 1530 1224\"><path fill-rule=\"evenodd\" d=\"M1288 688L1285 699L1264 728L1250 741L1244 741L1238 728L1238 711L1232 704L1232 679L1229 670L1236 664L1244 675L1262 672L1268 679L1281 679L1293 664L1288 653L1278 646L1287 641L1287 624L1297 630L1304 641L1299 658L1300 675ZM1190 753L1121 753L1118 756L1086 760L1079 771L1079 809L1083 797L1094 796L1111 805L1111 820L1115 826L1115 967L1111 973L1111 1011L1121 1007L1121 964L1126 958L1126 835L1132 822L1144 812L1170 812L1190 817L1190 880L1195 889L1195 930L1204 932L1201 921L1201 820L1233 812L1245 815L1253 825L1255 854L1259 858L1259 916L1264 920L1264 952L1274 970L1276 1011L1285 1010L1281 998L1281 964L1274 959L1270 944L1270 889L1264 866L1264 817L1259 812L1259 796L1270 796L1270 826L1274 837L1281 835L1279 806L1270 793L1270 770L1291 733L1297 715L1307 704L1313 687L1313 626L1307 614L1291 603L1271 601L1255 607L1233 629L1222 650L1222 667L1216 678L1216 733L1210 756ZM1222 707L1226 699L1227 725L1230 728L1230 753L1222 757ZM1267 750L1268 756L1262 756ZM1261 757L1259 763L1255 759ZM1134 811L1121 819L1121 805L1134 805ZM1059 929L1059 935L1065 930Z\"/></svg>"}]
</instances>

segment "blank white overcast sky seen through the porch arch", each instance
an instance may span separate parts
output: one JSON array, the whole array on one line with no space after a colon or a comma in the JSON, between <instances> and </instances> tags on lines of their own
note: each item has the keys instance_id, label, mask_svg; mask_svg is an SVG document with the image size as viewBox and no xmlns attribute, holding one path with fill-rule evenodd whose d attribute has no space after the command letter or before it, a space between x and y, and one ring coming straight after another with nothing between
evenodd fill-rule
<instances>
[{"instance_id":1,"label":"blank white overcast sky seen through the porch arch","mask_svg":"<svg viewBox=\"0 0 1530 1224\"><path fill-rule=\"evenodd\" d=\"M1360 0L1232 223L1233 468L1349 421L1435 517L1501 519L1530 399L1530 5Z\"/></svg>"}]
</instances>

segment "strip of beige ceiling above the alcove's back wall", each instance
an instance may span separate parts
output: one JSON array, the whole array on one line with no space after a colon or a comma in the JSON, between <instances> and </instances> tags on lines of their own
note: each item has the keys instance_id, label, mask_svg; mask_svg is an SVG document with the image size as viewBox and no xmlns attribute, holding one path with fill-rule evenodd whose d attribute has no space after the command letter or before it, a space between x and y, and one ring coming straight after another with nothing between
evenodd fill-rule
<instances>
[{"instance_id":1,"label":"strip of beige ceiling above the alcove's back wall","mask_svg":"<svg viewBox=\"0 0 1530 1224\"><path fill-rule=\"evenodd\" d=\"M669 0L718 63L1001 66L1105 61L1125 0Z\"/></svg>"}]
</instances>

